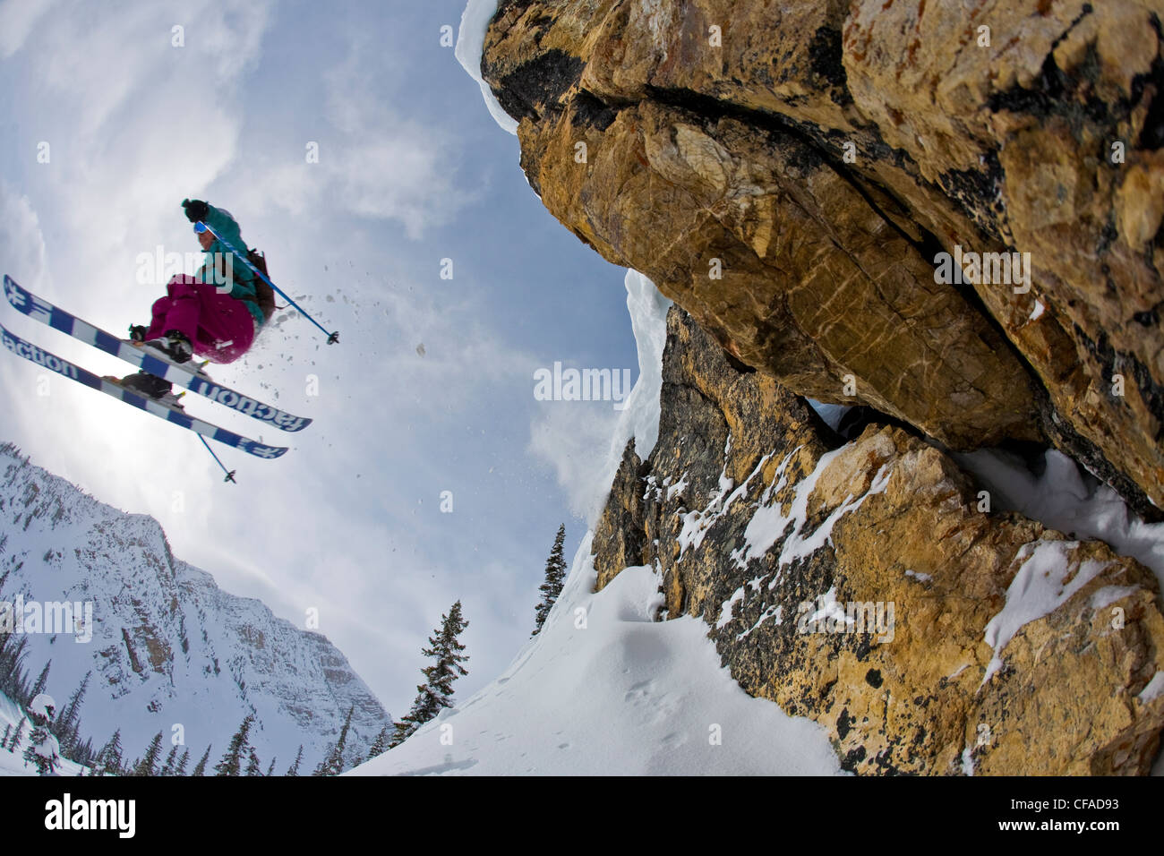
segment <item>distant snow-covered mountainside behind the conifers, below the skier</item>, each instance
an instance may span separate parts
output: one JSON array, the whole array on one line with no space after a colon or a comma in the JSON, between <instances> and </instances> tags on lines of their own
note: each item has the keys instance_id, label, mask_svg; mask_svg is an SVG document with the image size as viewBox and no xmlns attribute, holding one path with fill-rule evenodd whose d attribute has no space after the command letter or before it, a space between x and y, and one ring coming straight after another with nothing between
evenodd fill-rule
<instances>
[{"instance_id":1,"label":"distant snow-covered mountainside behind the conifers, below the skier","mask_svg":"<svg viewBox=\"0 0 1164 856\"><path fill-rule=\"evenodd\" d=\"M349 707L352 756L367 754L390 722L324 636L218 588L171 554L154 518L100 503L0 447L5 574L0 601L21 599L26 620L47 602L73 604L71 627L49 628L42 617L23 628L26 670L35 678L51 659L47 691L61 705L93 672L80 721L94 748L120 728L133 759L162 731L166 749L172 735L184 736L191 766L207 744L217 762L254 713L251 743L264 770L277 757L276 772L285 772L301 743L300 773L310 773Z\"/></svg>"}]
</instances>

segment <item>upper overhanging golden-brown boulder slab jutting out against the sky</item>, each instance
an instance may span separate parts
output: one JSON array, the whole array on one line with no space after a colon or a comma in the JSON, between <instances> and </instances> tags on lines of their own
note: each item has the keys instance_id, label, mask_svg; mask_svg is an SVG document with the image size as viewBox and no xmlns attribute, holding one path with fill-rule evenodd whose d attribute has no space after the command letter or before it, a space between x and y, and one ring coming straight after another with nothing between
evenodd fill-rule
<instances>
[{"instance_id":1,"label":"upper overhanging golden-brown boulder slab jutting out against the sky","mask_svg":"<svg viewBox=\"0 0 1164 856\"><path fill-rule=\"evenodd\" d=\"M547 208L745 365L952 448L1051 441L1154 514L1162 17L502 0L482 72Z\"/></svg>"}]
</instances>

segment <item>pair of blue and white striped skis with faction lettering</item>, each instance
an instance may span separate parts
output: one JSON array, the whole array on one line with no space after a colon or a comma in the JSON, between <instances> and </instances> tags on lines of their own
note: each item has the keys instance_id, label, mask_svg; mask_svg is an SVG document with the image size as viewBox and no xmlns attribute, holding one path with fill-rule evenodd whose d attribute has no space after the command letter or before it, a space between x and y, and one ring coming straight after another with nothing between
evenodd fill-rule
<instances>
[{"instance_id":1,"label":"pair of blue and white striped skis with faction lettering","mask_svg":"<svg viewBox=\"0 0 1164 856\"><path fill-rule=\"evenodd\" d=\"M236 392L233 389L214 383L194 363L173 362L165 354L156 351L155 348L141 347L137 344L125 341L123 339L119 339L104 330L94 327L93 325L83 321L69 312L65 312L63 309L54 306L48 300L21 288L10 276L5 276L3 290L5 297L8 298L8 303L17 312L22 312L41 324L45 324L54 330L68 333L86 345L92 345L107 354L112 354L121 360L125 360L129 365L136 366L142 372L147 372L151 375L170 381L171 383L185 387L200 396L210 398L213 402L218 402L230 410L246 413L247 416L267 423L268 425L272 425L281 431L301 431L311 424L311 419L286 413L270 404L264 404L255 398ZM0 325L0 335L2 335L3 346L17 356L22 356L26 360L35 362L37 366L62 375L63 377L83 383L91 389L100 390L101 392L113 396L130 406L144 410L146 412L152 413L154 416L165 419L171 424L189 429L201 437L208 437L212 440L218 440L227 446L240 448L243 452L253 454L257 458L279 458L288 451L285 446L268 446L236 434L233 431L227 431L226 429L211 425L201 419L196 419L189 416L180 406L155 401L148 396L141 395L140 392L126 389L108 379L99 377L92 372L87 372L68 360L62 360L59 356L50 354L48 351L44 351L31 342L24 341L19 335L10 333L2 325ZM203 443L205 444L205 440L203 440ZM210 448L210 446L207 446L207 448ZM211 452L211 454L214 453ZM215 455L214 459L218 460L218 455ZM219 461L219 466L221 466L221 461ZM222 467L222 469L226 471L226 467ZM233 473L227 473L227 481L233 481Z\"/></svg>"}]
</instances>

